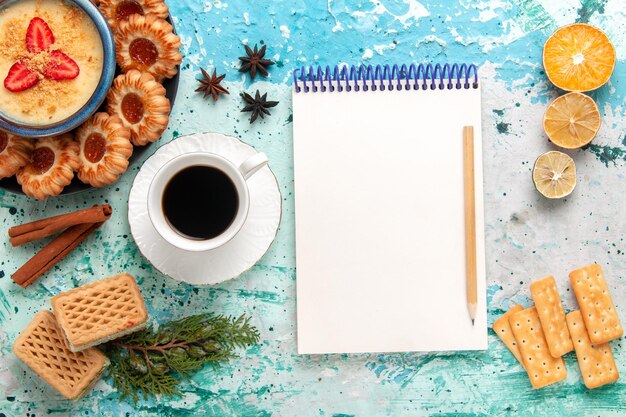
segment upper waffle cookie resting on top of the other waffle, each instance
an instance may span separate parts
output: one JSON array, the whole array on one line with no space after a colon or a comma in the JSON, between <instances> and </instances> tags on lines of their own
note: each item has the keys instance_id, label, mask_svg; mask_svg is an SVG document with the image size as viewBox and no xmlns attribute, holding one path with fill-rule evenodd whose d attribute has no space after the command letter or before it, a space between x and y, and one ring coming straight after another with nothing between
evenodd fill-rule
<instances>
[{"instance_id":1,"label":"upper waffle cookie resting on top of the other waffle","mask_svg":"<svg viewBox=\"0 0 626 417\"><path fill-rule=\"evenodd\" d=\"M135 278L129 274L78 287L51 302L72 352L140 330L148 320Z\"/></svg>"}]
</instances>

